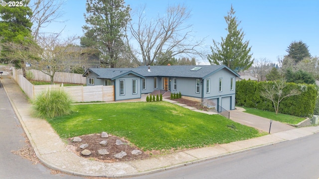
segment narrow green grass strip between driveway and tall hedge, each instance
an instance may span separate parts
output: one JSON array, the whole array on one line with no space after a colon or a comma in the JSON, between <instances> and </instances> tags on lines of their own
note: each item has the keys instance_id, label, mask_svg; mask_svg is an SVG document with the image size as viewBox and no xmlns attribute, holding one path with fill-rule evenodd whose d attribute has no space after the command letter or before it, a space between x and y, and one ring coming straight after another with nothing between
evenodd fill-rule
<instances>
[{"instance_id":1,"label":"narrow green grass strip between driveway and tall hedge","mask_svg":"<svg viewBox=\"0 0 319 179\"><path fill-rule=\"evenodd\" d=\"M287 123L287 124L298 124L299 122L305 120L304 117L297 117L297 116L292 116L288 114L278 113L276 115L276 112L264 111L260 109L249 108L249 107L244 107L244 109L246 109L245 112L249 114L254 114L257 116L265 117L268 119L272 119L272 120Z\"/></svg>"}]
</instances>

